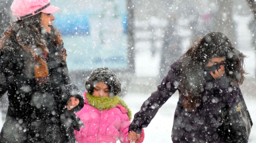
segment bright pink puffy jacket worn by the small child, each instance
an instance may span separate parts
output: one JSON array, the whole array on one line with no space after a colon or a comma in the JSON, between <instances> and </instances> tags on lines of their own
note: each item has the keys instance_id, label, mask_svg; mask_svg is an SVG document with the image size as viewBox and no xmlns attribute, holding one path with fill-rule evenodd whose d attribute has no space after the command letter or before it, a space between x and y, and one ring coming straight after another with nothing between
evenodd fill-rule
<instances>
[{"instance_id":1,"label":"bright pink puffy jacket worn by the small child","mask_svg":"<svg viewBox=\"0 0 256 143\"><path fill-rule=\"evenodd\" d=\"M86 143L129 143L128 128L131 124L127 115L128 111L122 105L109 110L98 110L88 104L86 92L84 94L84 107L76 115L84 123L80 131L75 130L77 142ZM136 143L144 140L144 131Z\"/></svg>"}]
</instances>

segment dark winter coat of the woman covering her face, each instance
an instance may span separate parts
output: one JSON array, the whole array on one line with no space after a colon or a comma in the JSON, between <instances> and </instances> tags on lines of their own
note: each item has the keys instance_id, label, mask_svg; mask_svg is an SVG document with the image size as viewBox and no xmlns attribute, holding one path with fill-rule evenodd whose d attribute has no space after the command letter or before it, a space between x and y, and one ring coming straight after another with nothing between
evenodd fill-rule
<instances>
[{"instance_id":1,"label":"dark winter coat of the woman covering her face","mask_svg":"<svg viewBox=\"0 0 256 143\"><path fill-rule=\"evenodd\" d=\"M226 142L226 136L221 130L225 118L222 111L238 104L242 97L240 88L232 86L226 76L222 76L220 80L207 82L197 110L187 111L182 105L185 96L180 92L179 66L180 63L171 65L171 70L162 80L162 84L158 86L158 90L144 101L141 110L135 114L129 131L134 130L140 133L142 128L148 126L158 109L178 90L179 101L172 129L173 142ZM238 132L239 130L232 131Z\"/></svg>"}]
</instances>

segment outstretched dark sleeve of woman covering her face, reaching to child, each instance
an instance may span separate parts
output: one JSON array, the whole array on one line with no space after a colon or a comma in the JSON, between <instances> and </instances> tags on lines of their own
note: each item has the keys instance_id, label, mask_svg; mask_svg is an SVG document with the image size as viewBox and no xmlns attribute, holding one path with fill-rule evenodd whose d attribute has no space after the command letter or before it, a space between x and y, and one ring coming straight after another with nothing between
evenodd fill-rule
<instances>
[{"instance_id":1,"label":"outstretched dark sleeve of woman covering her face, reaching to child","mask_svg":"<svg viewBox=\"0 0 256 143\"><path fill-rule=\"evenodd\" d=\"M158 112L158 109L176 92L179 85L178 66L177 63L171 65L168 75L162 80L162 83L158 86L158 90L153 92L148 100L144 101L140 111L135 114L133 122L129 126L129 131L135 131L141 134L142 129L148 126Z\"/></svg>"}]
</instances>

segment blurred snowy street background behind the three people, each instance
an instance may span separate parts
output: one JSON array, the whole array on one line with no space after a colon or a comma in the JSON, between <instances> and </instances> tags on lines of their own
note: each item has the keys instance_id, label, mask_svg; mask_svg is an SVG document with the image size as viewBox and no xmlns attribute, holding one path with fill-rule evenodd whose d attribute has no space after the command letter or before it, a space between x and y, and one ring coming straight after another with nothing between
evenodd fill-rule
<instances>
[{"instance_id":1,"label":"blurred snowy street background behind the three people","mask_svg":"<svg viewBox=\"0 0 256 143\"><path fill-rule=\"evenodd\" d=\"M16 20L10 0L0 0L0 34ZM109 67L122 83L123 96L133 114L156 90L170 65L193 40L208 32L224 32L234 47L247 55L249 74L241 86L256 123L255 47L256 2L253 0L51 0L67 49L72 81L83 92L84 82L97 67ZM135 100L136 99L136 100ZM8 100L0 102L2 122ZM145 129L144 142L172 142L177 93ZM250 142L256 142L256 129Z\"/></svg>"}]
</instances>

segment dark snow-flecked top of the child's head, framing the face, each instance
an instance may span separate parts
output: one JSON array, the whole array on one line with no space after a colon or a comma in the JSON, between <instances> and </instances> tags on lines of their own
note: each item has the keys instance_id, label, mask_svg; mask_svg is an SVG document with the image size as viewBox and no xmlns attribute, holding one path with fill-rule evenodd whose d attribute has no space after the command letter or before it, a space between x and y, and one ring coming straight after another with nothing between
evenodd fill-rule
<instances>
[{"instance_id":1,"label":"dark snow-flecked top of the child's head, framing the face","mask_svg":"<svg viewBox=\"0 0 256 143\"><path fill-rule=\"evenodd\" d=\"M121 92L121 82L108 67L97 68L88 77L85 82L85 89L92 95L94 87L98 82L103 82L108 85L110 97L113 97Z\"/></svg>"}]
</instances>

